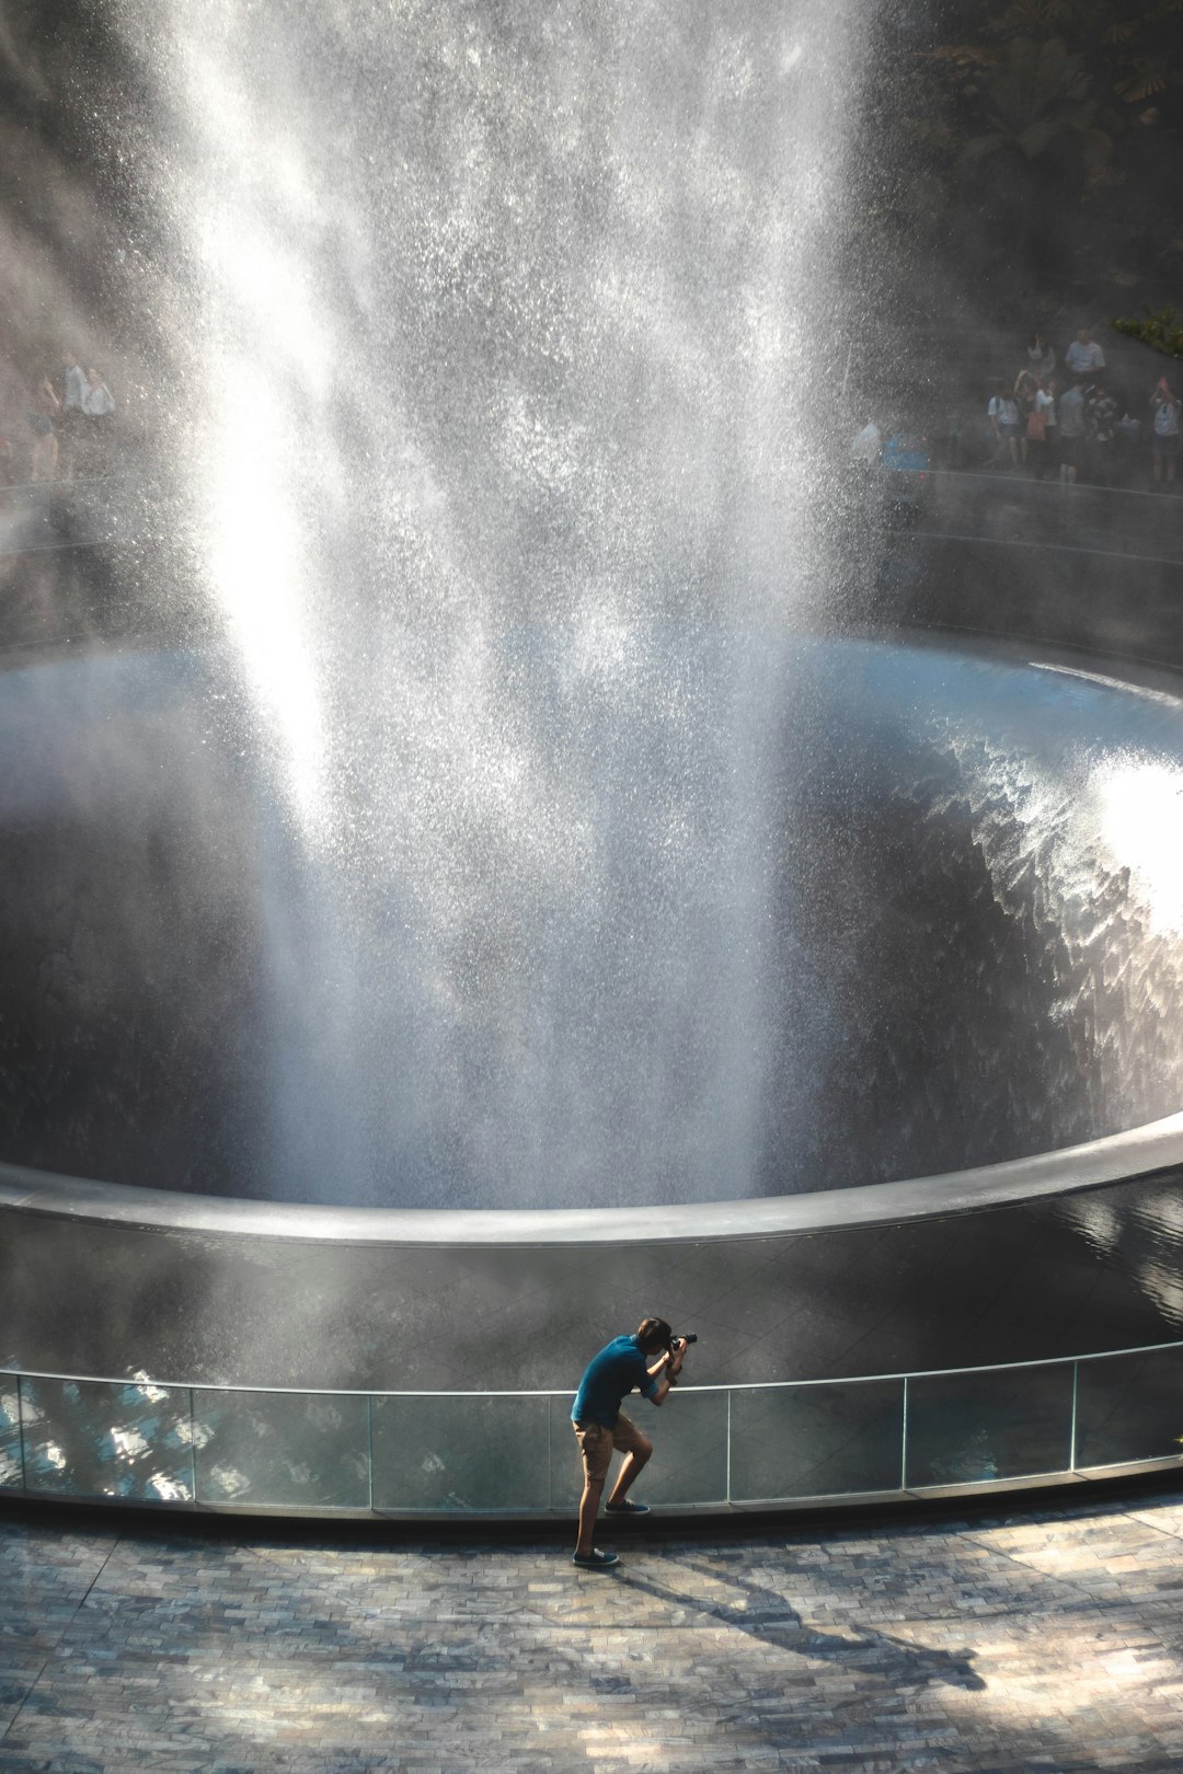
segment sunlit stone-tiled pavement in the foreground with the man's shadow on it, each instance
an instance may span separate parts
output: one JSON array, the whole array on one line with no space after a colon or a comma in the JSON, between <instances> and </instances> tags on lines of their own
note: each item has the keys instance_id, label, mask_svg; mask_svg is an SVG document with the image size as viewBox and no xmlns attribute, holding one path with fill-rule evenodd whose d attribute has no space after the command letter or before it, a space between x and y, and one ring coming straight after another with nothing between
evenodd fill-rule
<instances>
[{"instance_id":1,"label":"sunlit stone-tiled pavement in the foreground with the man's shadow on it","mask_svg":"<svg viewBox=\"0 0 1183 1774\"><path fill-rule=\"evenodd\" d=\"M1183 1767L1183 1490L495 1538L0 1510L0 1770Z\"/></svg>"}]
</instances>

